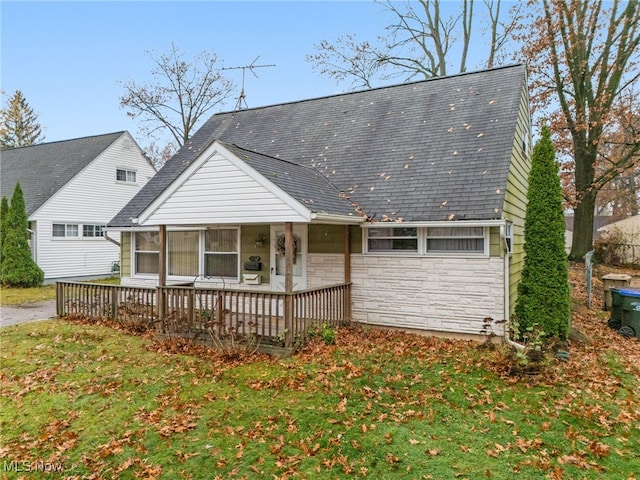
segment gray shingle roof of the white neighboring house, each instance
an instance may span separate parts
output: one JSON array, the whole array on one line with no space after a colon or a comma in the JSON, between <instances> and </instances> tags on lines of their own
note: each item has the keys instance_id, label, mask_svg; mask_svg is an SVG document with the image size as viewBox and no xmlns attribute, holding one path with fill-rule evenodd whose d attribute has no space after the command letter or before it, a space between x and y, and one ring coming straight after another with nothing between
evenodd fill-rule
<instances>
[{"instance_id":1,"label":"gray shingle roof of the white neighboring house","mask_svg":"<svg viewBox=\"0 0 640 480\"><path fill-rule=\"evenodd\" d=\"M75 177L125 132L40 143L0 151L0 196L11 200L20 182L27 216Z\"/></svg>"}]
</instances>

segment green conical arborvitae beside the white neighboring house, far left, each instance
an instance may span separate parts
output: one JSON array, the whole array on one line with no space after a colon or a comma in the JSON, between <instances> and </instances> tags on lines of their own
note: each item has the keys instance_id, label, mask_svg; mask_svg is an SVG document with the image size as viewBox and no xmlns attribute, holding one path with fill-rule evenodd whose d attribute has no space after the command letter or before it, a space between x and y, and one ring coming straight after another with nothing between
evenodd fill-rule
<instances>
[{"instance_id":1,"label":"green conical arborvitae beside the white neighboring house, far left","mask_svg":"<svg viewBox=\"0 0 640 480\"><path fill-rule=\"evenodd\" d=\"M36 287L44 281L44 272L33 261L29 248L27 211L22 188L17 183L5 224L2 245L2 283L11 287Z\"/></svg>"}]
</instances>

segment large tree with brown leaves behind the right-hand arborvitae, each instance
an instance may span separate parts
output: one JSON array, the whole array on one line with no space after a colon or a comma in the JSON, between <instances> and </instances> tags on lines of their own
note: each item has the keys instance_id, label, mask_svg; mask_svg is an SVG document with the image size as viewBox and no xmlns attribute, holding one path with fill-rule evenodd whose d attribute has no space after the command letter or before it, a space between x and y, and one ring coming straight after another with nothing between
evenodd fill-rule
<instances>
[{"instance_id":1,"label":"large tree with brown leaves behind the right-hand arborvitae","mask_svg":"<svg viewBox=\"0 0 640 480\"><path fill-rule=\"evenodd\" d=\"M530 0L528 7L539 13L533 24L519 22L516 39L528 60L534 111L548 116L569 158L563 169L575 216L570 258L581 261L592 249L598 192L638 161L637 129L620 140L623 123L637 119L626 98L640 78L640 2Z\"/></svg>"}]
</instances>

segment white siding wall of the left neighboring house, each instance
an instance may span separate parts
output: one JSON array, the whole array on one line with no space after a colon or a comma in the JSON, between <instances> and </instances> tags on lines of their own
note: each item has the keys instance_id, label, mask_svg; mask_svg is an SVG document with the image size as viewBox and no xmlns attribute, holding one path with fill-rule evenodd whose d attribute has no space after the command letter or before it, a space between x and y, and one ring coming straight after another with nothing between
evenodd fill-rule
<instances>
[{"instance_id":1,"label":"white siding wall of the left neighboring house","mask_svg":"<svg viewBox=\"0 0 640 480\"><path fill-rule=\"evenodd\" d=\"M112 262L120 259L118 246L102 236L82 236L82 226L93 225L95 233L142 187L142 182L132 186L115 181L115 171L123 162L137 170L139 180L155 174L130 135L123 133L29 217L38 225L34 258L45 279L111 274ZM72 241L55 237L54 223L78 225L78 236ZM109 236L119 239L118 233Z\"/></svg>"}]
</instances>

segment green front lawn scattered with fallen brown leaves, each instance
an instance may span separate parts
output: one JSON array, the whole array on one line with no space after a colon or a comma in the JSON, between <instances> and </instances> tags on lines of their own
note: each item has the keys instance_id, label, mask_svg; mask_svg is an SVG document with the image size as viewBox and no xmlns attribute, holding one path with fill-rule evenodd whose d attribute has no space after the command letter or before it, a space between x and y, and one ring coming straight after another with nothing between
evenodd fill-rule
<instances>
[{"instance_id":1,"label":"green front lawn scattered with fallen brown leaves","mask_svg":"<svg viewBox=\"0 0 640 480\"><path fill-rule=\"evenodd\" d=\"M5 327L2 474L637 479L640 342L597 310L573 321L593 343L525 376L501 348L369 328L233 361L101 325Z\"/></svg>"}]
</instances>

